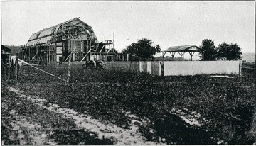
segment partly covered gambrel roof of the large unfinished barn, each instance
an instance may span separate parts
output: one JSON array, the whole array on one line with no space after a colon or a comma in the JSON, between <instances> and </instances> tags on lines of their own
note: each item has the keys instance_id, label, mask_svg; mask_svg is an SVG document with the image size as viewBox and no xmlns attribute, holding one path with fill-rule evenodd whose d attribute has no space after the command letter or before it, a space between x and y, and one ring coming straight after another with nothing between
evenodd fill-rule
<instances>
[{"instance_id":1,"label":"partly covered gambrel roof of the large unfinished barn","mask_svg":"<svg viewBox=\"0 0 256 146\"><path fill-rule=\"evenodd\" d=\"M27 45L36 45L38 43L49 43L54 35L58 33L58 28L60 26L72 27L72 26L81 26L85 28L92 34L92 38L95 38L95 42L97 42L96 35L92 30L92 27L87 25L87 23L81 21L79 18L73 18L69 21L65 21L63 23L59 23L58 25L51 26L50 28L45 28L43 30L38 31L37 33L33 33L31 37L28 39Z\"/></svg>"}]
</instances>

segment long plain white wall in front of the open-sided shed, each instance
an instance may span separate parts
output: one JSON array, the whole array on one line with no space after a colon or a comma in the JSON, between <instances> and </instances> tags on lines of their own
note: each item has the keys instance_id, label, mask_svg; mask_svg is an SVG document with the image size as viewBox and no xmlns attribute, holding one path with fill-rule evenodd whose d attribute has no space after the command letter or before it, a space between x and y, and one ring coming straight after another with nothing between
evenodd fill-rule
<instances>
[{"instance_id":1,"label":"long plain white wall in front of the open-sided shed","mask_svg":"<svg viewBox=\"0 0 256 146\"><path fill-rule=\"evenodd\" d=\"M240 61L166 61L164 62L164 76L196 74L239 74L239 62Z\"/></svg>"}]
</instances>

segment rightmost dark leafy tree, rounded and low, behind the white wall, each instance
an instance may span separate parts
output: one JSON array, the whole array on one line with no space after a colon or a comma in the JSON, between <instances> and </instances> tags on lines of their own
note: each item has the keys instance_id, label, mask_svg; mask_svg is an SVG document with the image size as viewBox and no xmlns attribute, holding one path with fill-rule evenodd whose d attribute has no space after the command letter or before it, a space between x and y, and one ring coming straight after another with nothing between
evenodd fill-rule
<instances>
[{"instance_id":1,"label":"rightmost dark leafy tree, rounded and low, behind the white wall","mask_svg":"<svg viewBox=\"0 0 256 146\"><path fill-rule=\"evenodd\" d=\"M221 60L240 60L242 57L241 48L235 44L227 44L225 42L218 46L218 59Z\"/></svg>"}]
</instances>

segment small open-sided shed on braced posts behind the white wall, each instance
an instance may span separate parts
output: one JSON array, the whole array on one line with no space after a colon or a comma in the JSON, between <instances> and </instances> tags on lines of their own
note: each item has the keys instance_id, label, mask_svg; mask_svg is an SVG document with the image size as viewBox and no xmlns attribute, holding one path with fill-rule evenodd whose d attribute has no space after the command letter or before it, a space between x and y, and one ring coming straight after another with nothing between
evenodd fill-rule
<instances>
[{"instance_id":1,"label":"small open-sided shed on braced posts behind the white wall","mask_svg":"<svg viewBox=\"0 0 256 146\"><path fill-rule=\"evenodd\" d=\"M182 58L184 59L185 52L188 52L189 55L191 56L191 61L192 61L192 57L195 52L202 52L203 54L204 50L196 45L181 45L181 46L169 47L168 49L162 51L163 61L164 61L164 55L166 55L166 52L169 52L171 54L171 57L173 57L173 59L174 59L175 53L178 52L178 54L181 55L181 61L182 61Z\"/></svg>"}]
</instances>

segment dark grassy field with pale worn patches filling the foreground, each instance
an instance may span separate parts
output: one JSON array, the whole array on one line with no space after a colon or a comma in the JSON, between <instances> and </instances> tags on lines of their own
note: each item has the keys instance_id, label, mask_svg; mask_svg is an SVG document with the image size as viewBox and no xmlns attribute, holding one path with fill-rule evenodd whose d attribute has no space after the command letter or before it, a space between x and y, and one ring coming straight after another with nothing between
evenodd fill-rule
<instances>
[{"instance_id":1,"label":"dark grassy field with pale worn patches filling the foreground","mask_svg":"<svg viewBox=\"0 0 256 146\"><path fill-rule=\"evenodd\" d=\"M67 79L67 69L41 67ZM252 145L255 84L72 67L70 84L31 67L2 84L4 145ZM254 124L253 124L254 123Z\"/></svg>"}]
</instances>

